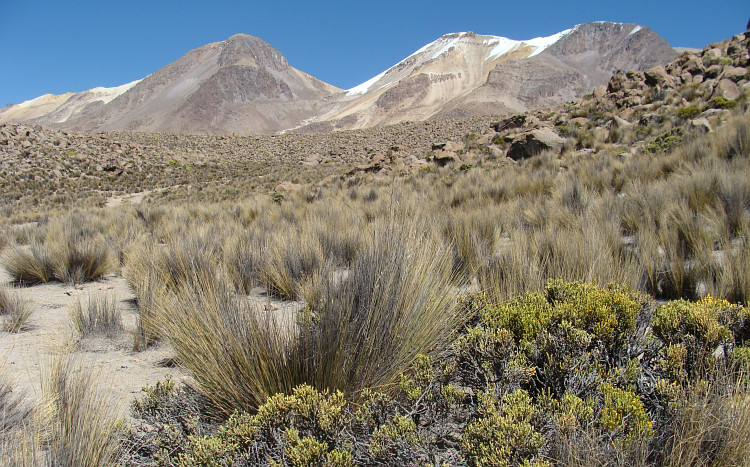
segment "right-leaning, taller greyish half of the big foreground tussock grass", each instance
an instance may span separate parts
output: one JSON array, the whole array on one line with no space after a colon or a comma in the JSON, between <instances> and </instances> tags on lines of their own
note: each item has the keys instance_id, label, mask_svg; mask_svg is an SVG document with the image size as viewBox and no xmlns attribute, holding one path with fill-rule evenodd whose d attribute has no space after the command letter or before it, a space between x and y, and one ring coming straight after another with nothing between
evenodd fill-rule
<instances>
[{"instance_id":1,"label":"right-leaning, taller greyish half of the big foreground tussock grass","mask_svg":"<svg viewBox=\"0 0 750 467\"><path fill-rule=\"evenodd\" d=\"M460 324L449 251L402 225L378 226L347 277L329 276L310 304L293 352L305 382L345 394L388 387Z\"/></svg>"}]
</instances>

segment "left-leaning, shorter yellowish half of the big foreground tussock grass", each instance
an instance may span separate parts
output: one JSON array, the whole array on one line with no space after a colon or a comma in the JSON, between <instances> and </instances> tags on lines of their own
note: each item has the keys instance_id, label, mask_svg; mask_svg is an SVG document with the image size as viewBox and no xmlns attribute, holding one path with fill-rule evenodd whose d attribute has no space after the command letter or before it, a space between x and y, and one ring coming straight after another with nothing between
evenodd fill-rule
<instances>
[{"instance_id":1,"label":"left-leaning, shorter yellowish half of the big foreground tussock grass","mask_svg":"<svg viewBox=\"0 0 750 467\"><path fill-rule=\"evenodd\" d=\"M205 395L231 413L293 387L287 363L294 331L212 277L192 281L196 287L163 298L155 324Z\"/></svg>"}]
</instances>

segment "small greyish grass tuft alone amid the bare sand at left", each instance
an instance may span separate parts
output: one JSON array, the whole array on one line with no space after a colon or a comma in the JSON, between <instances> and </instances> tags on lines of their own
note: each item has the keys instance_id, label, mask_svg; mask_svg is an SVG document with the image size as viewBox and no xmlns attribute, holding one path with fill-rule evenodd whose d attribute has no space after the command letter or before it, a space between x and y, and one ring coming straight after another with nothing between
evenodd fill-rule
<instances>
[{"instance_id":1,"label":"small greyish grass tuft alone amid the bare sand at left","mask_svg":"<svg viewBox=\"0 0 750 467\"><path fill-rule=\"evenodd\" d=\"M122 332L122 311L113 294L93 294L84 300L71 302L68 313L78 335L113 336Z\"/></svg>"}]
</instances>

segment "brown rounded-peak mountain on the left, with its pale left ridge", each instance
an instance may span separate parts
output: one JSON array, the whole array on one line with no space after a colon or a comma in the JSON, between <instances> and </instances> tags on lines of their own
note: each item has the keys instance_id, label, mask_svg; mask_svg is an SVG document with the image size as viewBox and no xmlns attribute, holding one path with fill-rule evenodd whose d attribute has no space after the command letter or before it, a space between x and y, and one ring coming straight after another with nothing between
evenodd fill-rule
<instances>
[{"instance_id":1,"label":"brown rounded-peak mountain on the left, with its pale left ridge","mask_svg":"<svg viewBox=\"0 0 750 467\"><path fill-rule=\"evenodd\" d=\"M278 50L246 34L191 50L131 85L107 100L93 100L95 90L52 96L44 101L68 97L54 111L17 118L26 107L43 110L34 99L6 107L0 120L84 132L274 133L317 115L325 98L340 91L291 67ZM68 112L77 101L85 104Z\"/></svg>"}]
</instances>

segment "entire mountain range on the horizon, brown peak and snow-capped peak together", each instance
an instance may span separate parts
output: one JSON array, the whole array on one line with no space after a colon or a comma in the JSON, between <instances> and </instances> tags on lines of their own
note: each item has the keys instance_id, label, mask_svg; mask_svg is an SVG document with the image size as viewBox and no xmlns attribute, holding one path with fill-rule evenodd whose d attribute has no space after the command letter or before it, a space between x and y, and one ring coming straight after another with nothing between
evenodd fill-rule
<instances>
[{"instance_id":1,"label":"entire mountain range on the horizon, brown peak and snow-capped peak together","mask_svg":"<svg viewBox=\"0 0 750 467\"><path fill-rule=\"evenodd\" d=\"M675 56L636 24L587 23L525 41L454 33L344 91L237 34L133 83L6 106L0 121L79 132L268 134L504 115L575 99L618 69L646 70Z\"/></svg>"}]
</instances>

